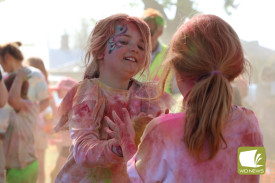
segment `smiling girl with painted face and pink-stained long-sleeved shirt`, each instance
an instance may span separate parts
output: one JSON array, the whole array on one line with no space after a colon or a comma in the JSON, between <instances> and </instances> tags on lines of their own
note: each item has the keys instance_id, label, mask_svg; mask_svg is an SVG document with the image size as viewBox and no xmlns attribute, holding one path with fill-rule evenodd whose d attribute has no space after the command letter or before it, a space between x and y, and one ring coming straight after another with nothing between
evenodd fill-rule
<instances>
[{"instance_id":1,"label":"smiling girl with painted face and pink-stained long-sleeved shirt","mask_svg":"<svg viewBox=\"0 0 275 183\"><path fill-rule=\"evenodd\" d=\"M122 116L127 108L133 124L144 123L141 114L158 115L169 108L169 97L152 97L154 85L133 77L146 74L150 65L150 31L136 17L116 14L100 20L89 38L84 80L65 96L56 130L69 127L73 144L55 182L129 182L123 152L104 128L104 116ZM136 126L142 126L140 124ZM137 129L138 130L138 129Z\"/></svg>"}]
</instances>

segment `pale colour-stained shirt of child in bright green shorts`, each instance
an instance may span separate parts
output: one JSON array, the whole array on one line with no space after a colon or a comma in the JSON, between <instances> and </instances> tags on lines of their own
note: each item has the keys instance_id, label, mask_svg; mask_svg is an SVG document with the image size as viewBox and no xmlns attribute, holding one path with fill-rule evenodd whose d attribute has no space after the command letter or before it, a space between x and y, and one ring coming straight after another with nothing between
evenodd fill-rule
<instances>
[{"instance_id":1,"label":"pale colour-stained shirt of child in bright green shorts","mask_svg":"<svg viewBox=\"0 0 275 183\"><path fill-rule=\"evenodd\" d=\"M4 139L7 169L23 169L36 160L34 131L38 114L39 105L30 100L24 100L19 112L11 111Z\"/></svg>"}]
</instances>

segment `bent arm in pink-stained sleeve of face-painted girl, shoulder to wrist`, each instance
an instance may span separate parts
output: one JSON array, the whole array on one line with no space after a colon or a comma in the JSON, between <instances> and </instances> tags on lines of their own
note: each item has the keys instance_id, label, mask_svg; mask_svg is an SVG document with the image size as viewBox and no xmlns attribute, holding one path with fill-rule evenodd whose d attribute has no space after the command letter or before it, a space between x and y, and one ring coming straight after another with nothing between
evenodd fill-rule
<instances>
[{"instance_id":1,"label":"bent arm in pink-stained sleeve of face-painted girl, shoulder to wrist","mask_svg":"<svg viewBox=\"0 0 275 183\"><path fill-rule=\"evenodd\" d=\"M112 147L117 147L118 142L115 139L107 140L108 135L103 134L101 129L105 100L97 96L98 88L95 83L91 83L92 81L83 82L73 92L76 95L72 97L70 94L72 92L69 92L60 105L60 111L68 111L63 108L70 106L69 103L72 101L74 102L67 113L69 114L70 136L74 146L74 159L77 164L86 167L110 167L113 164L121 163L123 158L112 151ZM92 86L89 86L91 84ZM79 93L81 94L79 95ZM66 127L67 125L63 123L61 128L62 126Z\"/></svg>"}]
</instances>

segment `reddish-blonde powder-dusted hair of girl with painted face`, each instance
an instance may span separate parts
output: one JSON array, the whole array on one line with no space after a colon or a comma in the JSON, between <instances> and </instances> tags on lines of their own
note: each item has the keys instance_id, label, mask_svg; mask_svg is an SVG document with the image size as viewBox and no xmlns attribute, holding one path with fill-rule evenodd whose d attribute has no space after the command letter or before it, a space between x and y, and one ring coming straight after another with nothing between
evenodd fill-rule
<instances>
[{"instance_id":1,"label":"reddish-blonde powder-dusted hair of girl with painted face","mask_svg":"<svg viewBox=\"0 0 275 183\"><path fill-rule=\"evenodd\" d=\"M140 18L127 14L115 14L97 22L89 36L87 53L85 55L87 68L84 79L99 76L99 58L104 54L108 40L115 34L118 23L133 23L138 27L144 41L145 52L145 64L141 74L145 72L148 75L151 62L151 37L148 25Z\"/></svg>"}]
</instances>

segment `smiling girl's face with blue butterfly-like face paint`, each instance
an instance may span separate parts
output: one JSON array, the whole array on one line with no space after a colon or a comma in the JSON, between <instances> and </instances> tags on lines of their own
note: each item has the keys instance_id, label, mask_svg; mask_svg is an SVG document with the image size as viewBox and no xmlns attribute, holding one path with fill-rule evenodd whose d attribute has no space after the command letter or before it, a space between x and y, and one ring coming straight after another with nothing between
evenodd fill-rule
<instances>
[{"instance_id":1,"label":"smiling girl's face with blue butterfly-like face paint","mask_svg":"<svg viewBox=\"0 0 275 183\"><path fill-rule=\"evenodd\" d=\"M100 65L100 74L132 78L145 64L144 42L133 23L118 24L109 39Z\"/></svg>"}]
</instances>

